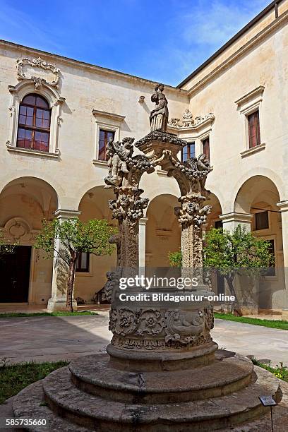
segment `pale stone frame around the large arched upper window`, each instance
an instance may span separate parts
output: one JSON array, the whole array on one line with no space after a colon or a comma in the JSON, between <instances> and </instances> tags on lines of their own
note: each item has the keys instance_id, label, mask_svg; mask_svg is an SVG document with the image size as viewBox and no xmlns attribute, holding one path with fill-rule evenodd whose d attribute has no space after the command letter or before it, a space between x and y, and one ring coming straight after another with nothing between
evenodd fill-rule
<instances>
[{"instance_id":1,"label":"pale stone frame around the large arched upper window","mask_svg":"<svg viewBox=\"0 0 288 432\"><path fill-rule=\"evenodd\" d=\"M32 80L21 81L17 85L8 85L8 90L11 93L11 104L9 107L11 123L9 138L6 141L7 150L33 155L59 157L60 151L58 148L58 136L59 126L62 120L61 105L64 103L65 98L61 97L59 92L51 85L45 84L43 82L40 89L35 88L35 83ZM49 107L51 109L49 152L40 152L39 150L30 150L17 147L20 102L23 100L23 97L29 93L36 93L37 95L44 97L49 103Z\"/></svg>"}]
</instances>

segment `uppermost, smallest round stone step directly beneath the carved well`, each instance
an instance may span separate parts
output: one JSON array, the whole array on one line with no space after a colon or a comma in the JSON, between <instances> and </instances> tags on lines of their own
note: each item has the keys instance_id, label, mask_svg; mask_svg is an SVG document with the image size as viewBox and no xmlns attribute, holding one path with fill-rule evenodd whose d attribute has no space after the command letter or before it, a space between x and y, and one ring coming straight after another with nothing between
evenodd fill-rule
<instances>
[{"instance_id":1,"label":"uppermost, smallest round stone step directly beneath the carved well","mask_svg":"<svg viewBox=\"0 0 288 432\"><path fill-rule=\"evenodd\" d=\"M161 372L120 371L107 355L71 361L73 383L80 390L105 399L140 404L187 402L219 397L240 390L256 379L252 362L244 356L224 357L202 368Z\"/></svg>"}]
</instances>

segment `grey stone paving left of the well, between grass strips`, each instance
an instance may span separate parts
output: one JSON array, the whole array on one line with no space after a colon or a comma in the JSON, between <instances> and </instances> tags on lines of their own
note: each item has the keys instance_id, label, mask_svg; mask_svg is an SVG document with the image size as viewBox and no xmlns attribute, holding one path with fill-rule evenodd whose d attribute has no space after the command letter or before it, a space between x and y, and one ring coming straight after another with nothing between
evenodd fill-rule
<instances>
[{"instance_id":1,"label":"grey stone paving left of the well, between grass strips","mask_svg":"<svg viewBox=\"0 0 288 432\"><path fill-rule=\"evenodd\" d=\"M0 359L71 360L104 351L111 339L108 313L0 319Z\"/></svg>"}]
</instances>

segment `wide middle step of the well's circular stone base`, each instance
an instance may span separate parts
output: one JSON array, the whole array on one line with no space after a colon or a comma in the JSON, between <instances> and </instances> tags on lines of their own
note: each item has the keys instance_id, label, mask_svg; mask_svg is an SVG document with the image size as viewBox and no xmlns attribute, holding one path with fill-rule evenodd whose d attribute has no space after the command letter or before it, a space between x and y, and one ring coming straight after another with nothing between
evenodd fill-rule
<instances>
[{"instance_id":1,"label":"wide middle step of the well's circular stone base","mask_svg":"<svg viewBox=\"0 0 288 432\"><path fill-rule=\"evenodd\" d=\"M121 421L121 431L212 431L233 426L268 412L258 397L272 395L281 400L279 380L256 367L257 380L230 395L172 404L131 404L90 395L76 388L68 367L52 372L42 381L44 398L57 415L95 431L113 431ZM18 404L25 415L33 409L25 406L25 394ZM23 401L24 400L24 401ZM24 403L23 403L24 402ZM18 415L19 412L18 407Z\"/></svg>"}]
</instances>

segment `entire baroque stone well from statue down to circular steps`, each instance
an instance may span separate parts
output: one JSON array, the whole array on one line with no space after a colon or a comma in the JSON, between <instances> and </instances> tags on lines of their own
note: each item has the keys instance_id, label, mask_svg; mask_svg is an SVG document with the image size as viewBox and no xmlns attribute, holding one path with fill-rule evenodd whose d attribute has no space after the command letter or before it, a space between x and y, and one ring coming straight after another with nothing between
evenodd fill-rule
<instances>
[{"instance_id":1,"label":"entire baroque stone well from statue down to circular steps","mask_svg":"<svg viewBox=\"0 0 288 432\"><path fill-rule=\"evenodd\" d=\"M275 376L244 356L217 349L210 336L214 320L204 298L210 290L203 282L202 225L210 212L205 181L212 167L205 155L178 159L186 142L166 131L162 85L156 86L152 101L152 130L136 143L141 153L133 155L133 138L108 145L104 181L114 188L109 207L119 221L119 234L112 239L118 251L116 269L107 274L105 285L113 333L107 354L80 357L24 389L13 402L13 413L47 419L49 431L228 431L237 425L256 431L258 418L269 414L258 397L272 395L280 402L282 392ZM157 166L179 184L175 214L182 229L182 276L196 275L198 286L185 292L203 295L200 302L174 306L119 300L119 277L139 271L138 222L148 205L141 198L140 178Z\"/></svg>"}]
</instances>

